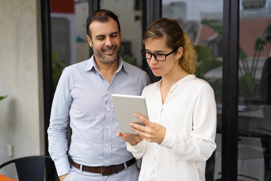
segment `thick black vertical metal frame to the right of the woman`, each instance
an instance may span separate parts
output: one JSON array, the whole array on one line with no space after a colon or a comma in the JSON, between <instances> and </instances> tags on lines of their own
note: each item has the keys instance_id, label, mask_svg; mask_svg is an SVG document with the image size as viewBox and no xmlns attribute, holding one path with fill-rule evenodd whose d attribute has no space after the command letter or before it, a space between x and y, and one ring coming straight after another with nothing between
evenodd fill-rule
<instances>
[{"instance_id":1,"label":"thick black vertical metal frame to the right of the woman","mask_svg":"<svg viewBox=\"0 0 271 181\"><path fill-rule=\"evenodd\" d=\"M237 180L239 0L223 0L222 180Z\"/></svg>"}]
</instances>

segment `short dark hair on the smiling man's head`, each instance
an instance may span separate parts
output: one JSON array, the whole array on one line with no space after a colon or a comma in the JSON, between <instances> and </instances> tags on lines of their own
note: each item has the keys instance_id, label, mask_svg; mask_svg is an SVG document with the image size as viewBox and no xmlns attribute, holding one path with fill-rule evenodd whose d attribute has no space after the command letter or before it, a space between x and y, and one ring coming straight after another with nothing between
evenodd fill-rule
<instances>
[{"instance_id":1,"label":"short dark hair on the smiling man's head","mask_svg":"<svg viewBox=\"0 0 271 181\"><path fill-rule=\"evenodd\" d=\"M109 10L105 10L105 9L96 10L96 11L92 12L87 17L87 20L86 20L86 33L90 37L90 39L92 39L92 37L91 37L91 32L90 32L90 29L89 29L89 25L91 23L93 23L94 21L98 21L98 22L102 22L102 23L108 22L109 17L117 22L118 32L120 33L119 21L118 21L117 16L114 13L112 13Z\"/></svg>"}]
</instances>

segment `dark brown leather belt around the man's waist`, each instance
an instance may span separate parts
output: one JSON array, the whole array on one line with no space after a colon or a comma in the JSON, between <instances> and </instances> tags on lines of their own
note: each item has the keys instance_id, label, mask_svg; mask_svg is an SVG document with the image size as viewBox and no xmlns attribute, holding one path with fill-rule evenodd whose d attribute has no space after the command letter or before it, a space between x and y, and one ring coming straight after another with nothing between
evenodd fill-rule
<instances>
[{"instance_id":1,"label":"dark brown leather belt around the man's waist","mask_svg":"<svg viewBox=\"0 0 271 181\"><path fill-rule=\"evenodd\" d=\"M131 166L133 163L135 163L135 158L132 158L125 162L127 167ZM75 163L73 161L73 166L77 169L80 169L80 164ZM101 173L102 175L111 175L113 173L117 173L121 170L123 170L124 163L118 164L118 165L110 165L110 166L82 166L83 171L92 172L92 173Z\"/></svg>"}]
</instances>

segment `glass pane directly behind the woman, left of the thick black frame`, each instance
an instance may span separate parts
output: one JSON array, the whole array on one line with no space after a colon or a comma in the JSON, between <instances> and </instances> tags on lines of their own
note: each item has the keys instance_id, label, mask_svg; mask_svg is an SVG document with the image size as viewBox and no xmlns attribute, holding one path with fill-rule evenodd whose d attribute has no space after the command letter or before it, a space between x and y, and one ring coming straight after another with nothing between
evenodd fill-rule
<instances>
[{"instance_id":1,"label":"glass pane directly behind the woman, left of the thick black frame","mask_svg":"<svg viewBox=\"0 0 271 181\"><path fill-rule=\"evenodd\" d=\"M176 19L195 46L195 75L213 88L217 104L217 148L206 162L206 180L221 178L222 19L223 1L162 1L162 17Z\"/></svg>"}]
</instances>

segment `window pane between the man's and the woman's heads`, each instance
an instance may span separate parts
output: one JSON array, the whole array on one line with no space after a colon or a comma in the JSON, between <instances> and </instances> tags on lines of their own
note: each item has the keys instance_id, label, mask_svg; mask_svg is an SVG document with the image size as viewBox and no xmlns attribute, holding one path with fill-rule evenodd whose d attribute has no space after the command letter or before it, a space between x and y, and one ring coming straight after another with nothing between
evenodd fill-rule
<instances>
[{"instance_id":1,"label":"window pane between the man's and the woman's heads","mask_svg":"<svg viewBox=\"0 0 271 181\"><path fill-rule=\"evenodd\" d=\"M118 17L121 29L120 56L122 59L141 67L142 1L100 0L100 9L110 10Z\"/></svg>"}]
</instances>

